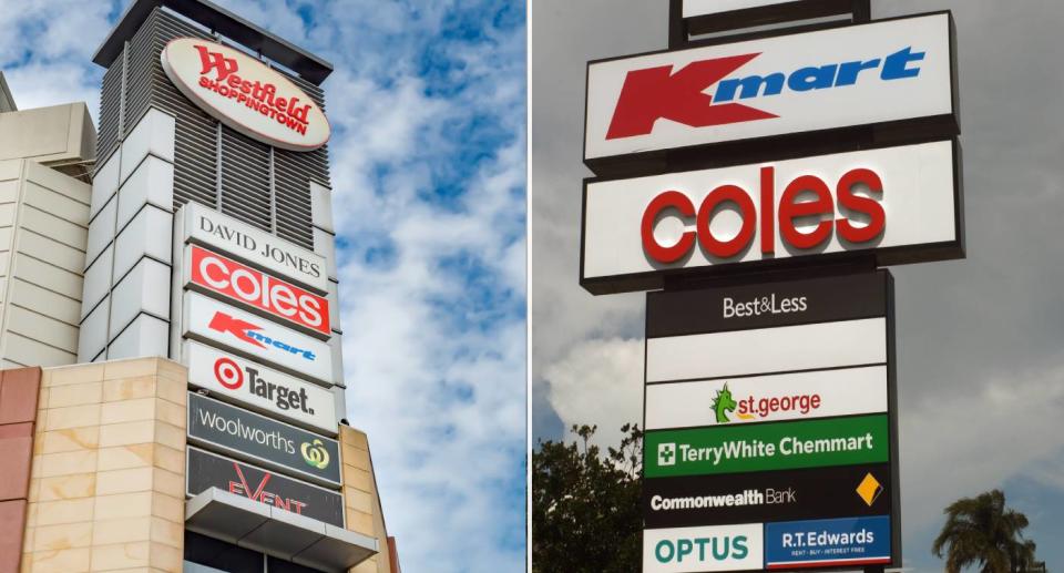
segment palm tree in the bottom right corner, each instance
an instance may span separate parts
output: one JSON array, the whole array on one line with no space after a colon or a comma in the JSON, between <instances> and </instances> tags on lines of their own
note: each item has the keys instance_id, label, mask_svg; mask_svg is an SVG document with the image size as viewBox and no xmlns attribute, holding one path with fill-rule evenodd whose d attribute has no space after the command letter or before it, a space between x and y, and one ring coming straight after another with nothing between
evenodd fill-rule
<instances>
[{"instance_id":1,"label":"palm tree in the bottom right corner","mask_svg":"<svg viewBox=\"0 0 1064 573\"><path fill-rule=\"evenodd\" d=\"M1001 490L956 500L944 513L945 524L931 552L942 557L944 550L948 573L969 566L979 567L980 573L1020 573L1042 566L1035 562L1034 542L1023 539L1026 515L1006 509Z\"/></svg>"}]
</instances>

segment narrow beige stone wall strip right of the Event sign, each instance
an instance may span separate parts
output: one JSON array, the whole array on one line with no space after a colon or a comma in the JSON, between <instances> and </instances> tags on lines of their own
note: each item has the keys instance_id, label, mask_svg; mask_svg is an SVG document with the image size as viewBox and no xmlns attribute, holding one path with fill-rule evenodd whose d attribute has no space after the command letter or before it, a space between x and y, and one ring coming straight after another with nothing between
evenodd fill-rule
<instances>
[{"instance_id":1,"label":"narrow beige stone wall strip right of the Event sign","mask_svg":"<svg viewBox=\"0 0 1064 573\"><path fill-rule=\"evenodd\" d=\"M340 456L344 458L344 504L347 529L377 539L378 553L352 567L351 573L398 573L388 561L388 532L377 493L377 479L366 433L340 426Z\"/></svg>"}]
</instances>

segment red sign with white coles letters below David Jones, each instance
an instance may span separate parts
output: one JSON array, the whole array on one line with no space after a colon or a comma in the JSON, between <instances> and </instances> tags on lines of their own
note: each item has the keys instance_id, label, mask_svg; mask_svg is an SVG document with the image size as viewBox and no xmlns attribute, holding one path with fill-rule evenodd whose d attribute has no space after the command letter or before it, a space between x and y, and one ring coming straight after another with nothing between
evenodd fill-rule
<instances>
[{"instance_id":1,"label":"red sign with white coles letters below David Jones","mask_svg":"<svg viewBox=\"0 0 1064 573\"><path fill-rule=\"evenodd\" d=\"M331 334L326 298L197 245L192 245L192 283L316 332Z\"/></svg>"}]
</instances>

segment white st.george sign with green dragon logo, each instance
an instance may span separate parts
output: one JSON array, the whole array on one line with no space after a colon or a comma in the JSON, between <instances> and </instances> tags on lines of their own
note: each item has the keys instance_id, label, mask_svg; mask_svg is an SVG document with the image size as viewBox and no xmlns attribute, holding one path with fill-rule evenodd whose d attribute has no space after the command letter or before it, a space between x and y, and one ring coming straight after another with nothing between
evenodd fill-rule
<instances>
[{"instance_id":1,"label":"white st.george sign with green dragon logo","mask_svg":"<svg viewBox=\"0 0 1064 573\"><path fill-rule=\"evenodd\" d=\"M887 411L887 366L653 383L647 430L806 420Z\"/></svg>"}]
</instances>

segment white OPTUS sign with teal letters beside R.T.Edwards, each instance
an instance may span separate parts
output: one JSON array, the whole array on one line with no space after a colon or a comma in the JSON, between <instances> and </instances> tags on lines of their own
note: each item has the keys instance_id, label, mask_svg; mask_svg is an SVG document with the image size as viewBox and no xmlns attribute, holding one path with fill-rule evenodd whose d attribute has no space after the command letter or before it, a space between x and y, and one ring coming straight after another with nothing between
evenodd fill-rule
<instances>
[{"instance_id":1,"label":"white OPTUS sign with teal letters beside R.T.Edwards","mask_svg":"<svg viewBox=\"0 0 1064 573\"><path fill-rule=\"evenodd\" d=\"M644 573L759 570L760 523L643 531Z\"/></svg>"}]
</instances>

